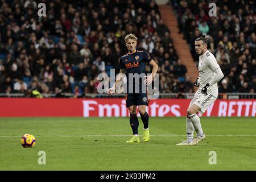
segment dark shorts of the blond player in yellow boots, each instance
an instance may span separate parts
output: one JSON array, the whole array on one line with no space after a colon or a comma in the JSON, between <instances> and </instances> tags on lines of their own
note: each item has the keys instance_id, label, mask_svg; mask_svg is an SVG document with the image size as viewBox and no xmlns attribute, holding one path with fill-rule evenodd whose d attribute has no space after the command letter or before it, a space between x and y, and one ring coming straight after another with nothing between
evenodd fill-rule
<instances>
[{"instance_id":1,"label":"dark shorts of the blond player in yellow boots","mask_svg":"<svg viewBox=\"0 0 256 182\"><path fill-rule=\"evenodd\" d=\"M126 107L130 107L133 105L148 105L148 94L147 93L133 93L133 94L126 94Z\"/></svg>"}]
</instances>

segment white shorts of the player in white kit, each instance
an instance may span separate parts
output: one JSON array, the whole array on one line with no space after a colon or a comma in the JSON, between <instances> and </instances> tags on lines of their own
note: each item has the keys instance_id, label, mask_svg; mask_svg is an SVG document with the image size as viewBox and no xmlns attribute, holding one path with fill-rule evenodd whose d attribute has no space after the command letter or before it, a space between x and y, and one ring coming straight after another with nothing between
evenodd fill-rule
<instances>
[{"instance_id":1,"label":"white shorts of the player in white kit","mask_svg":"<svg viewBox=\"0 0 256 182\"><path fill-rule=\"evenodd\" d=\"M203 93L196 92L195 96L193 97L193 99L189 104L189 107L192 104L195 104L200 107L199 112L203 114L207 110L207 108L216 101L216 99L217 99L216 94L213 95L208 93L207 95L205 95Z\"/></svg>"}]
</instances>

